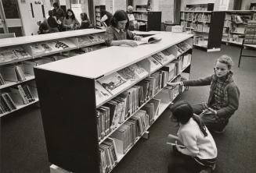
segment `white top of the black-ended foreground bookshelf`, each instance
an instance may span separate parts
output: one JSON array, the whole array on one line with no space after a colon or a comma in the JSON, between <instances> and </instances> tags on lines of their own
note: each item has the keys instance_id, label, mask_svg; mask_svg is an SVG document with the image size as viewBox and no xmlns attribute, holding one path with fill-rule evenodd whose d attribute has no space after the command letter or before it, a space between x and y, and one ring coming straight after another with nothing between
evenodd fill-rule
<instances>
[{"instance_id":1,"label":"white top of the black-ended foreground bookshelf","mask_svg":"<svg viewBox=\"0 0 256 173\"><path fill-rule=\"evenodd\" d=\"M193 37L193 34L160 32L155 36L161 37L162 40L155 44L142 44L135 48L112 46L61 61L39 65L36 68L96 79L100 76L107 76L119 69L124 69L128 65L185 41L189 37Z\"/></svg>"}]
</instances>

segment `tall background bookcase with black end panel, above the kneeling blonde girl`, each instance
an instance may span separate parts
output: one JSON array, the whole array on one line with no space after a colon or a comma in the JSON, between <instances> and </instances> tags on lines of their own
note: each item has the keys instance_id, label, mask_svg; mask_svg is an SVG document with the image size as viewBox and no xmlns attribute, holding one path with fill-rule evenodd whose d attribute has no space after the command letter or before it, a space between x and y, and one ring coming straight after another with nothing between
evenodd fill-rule
<instances>
[{"instance_id":1,"label":"tall background bookcase with black end panel, above the kneeling blonde girl","mask_svg":"<svg viewBox=\"0 0 256 173\"><path fill-rule=\"evenodd\" d=\"M194 34L193 45L207 51L220 51L225 12L182 11L181 25Z\"/></svg>"}]
</instances>

